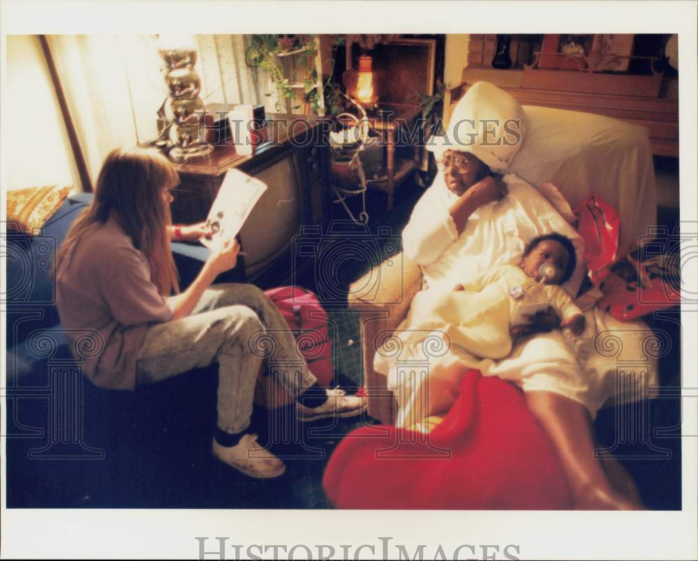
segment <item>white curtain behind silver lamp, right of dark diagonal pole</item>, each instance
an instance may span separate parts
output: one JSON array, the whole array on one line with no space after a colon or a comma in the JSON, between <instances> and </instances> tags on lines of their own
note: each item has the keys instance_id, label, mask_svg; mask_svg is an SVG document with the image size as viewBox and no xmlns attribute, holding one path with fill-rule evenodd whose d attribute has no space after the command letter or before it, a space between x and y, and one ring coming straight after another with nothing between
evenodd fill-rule
<instances>
[{"instance_id":1,"label":"white curtain behind silver lamp, right of dark diagonal pole","mask_svg":"<svg viewBox=\"0 0 698 561\"><path fill-rule=\"evenodd\" d=\"M157 38L60 35L47 40L94 185L113 148L158 136L156 112L167 88ZM276 88L267 72L246 66L246 41L240 35L195 36L200 97L205 103L262 104L274 112Z\"/></svg>"}]
</instances>

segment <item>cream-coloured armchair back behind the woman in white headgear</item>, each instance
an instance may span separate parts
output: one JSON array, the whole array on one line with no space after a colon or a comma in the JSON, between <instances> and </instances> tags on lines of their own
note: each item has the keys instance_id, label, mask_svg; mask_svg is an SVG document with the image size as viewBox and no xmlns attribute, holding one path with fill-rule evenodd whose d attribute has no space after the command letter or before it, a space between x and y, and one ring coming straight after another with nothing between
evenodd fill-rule
<instances>
[{"instance_id":1,"label":"cream-coloured armchair back behind the woman in white headgear","mask_svg":"<svg viewBox=\"0 0 698 561\"><path fill-rule=\"evenodd\" d=\"M572 208L589 194L603 197L621 215L621 255L650 237L657 194L646 128L553 107L523 111L526 138L508 172L536 187L554 183Z\"/></svg>"}]
</instances>

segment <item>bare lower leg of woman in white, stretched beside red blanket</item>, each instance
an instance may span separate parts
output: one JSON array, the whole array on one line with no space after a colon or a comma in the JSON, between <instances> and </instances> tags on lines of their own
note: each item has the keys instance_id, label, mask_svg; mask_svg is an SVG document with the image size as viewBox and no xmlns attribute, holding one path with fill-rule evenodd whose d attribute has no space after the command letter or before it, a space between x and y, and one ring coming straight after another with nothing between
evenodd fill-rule
<instances>
[{"instance_id":1,"label":"bare lower leg of woman in white, stretched beside red blanket","mask_svg":"<svg viewBox=\"0 0 698 561\"><path fill-rule=\"evenodd\" d=\"M635 510L639 500L618 493L594 457L591 417L577 401L552 392L526 392L526 404L555 446L575 509Z\"/></svg>"}]
</instances>

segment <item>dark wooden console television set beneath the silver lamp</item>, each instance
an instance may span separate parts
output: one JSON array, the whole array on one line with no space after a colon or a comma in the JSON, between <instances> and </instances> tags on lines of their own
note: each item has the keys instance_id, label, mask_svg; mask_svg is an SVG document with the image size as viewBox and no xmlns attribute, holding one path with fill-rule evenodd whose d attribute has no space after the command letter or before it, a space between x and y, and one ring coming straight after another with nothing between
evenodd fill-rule
<instances>
[{"instance_id":1,"label":"dark wooden console television set beneath the silver lamp","mask_svg":"<svg viewBox=\"0 0 698 561\"><path fill-rule=\"evenodd\" d=\"M268 121L251 156L223 145L206 160L180 164L172 203L172 222L198 222L207 217L228 169L265 181L267 191L240 232L247 280L262 287L290 281L293 237L302 226L324 225L331 203L325 120L270 114Z\"/></svg>"}]
</instances>

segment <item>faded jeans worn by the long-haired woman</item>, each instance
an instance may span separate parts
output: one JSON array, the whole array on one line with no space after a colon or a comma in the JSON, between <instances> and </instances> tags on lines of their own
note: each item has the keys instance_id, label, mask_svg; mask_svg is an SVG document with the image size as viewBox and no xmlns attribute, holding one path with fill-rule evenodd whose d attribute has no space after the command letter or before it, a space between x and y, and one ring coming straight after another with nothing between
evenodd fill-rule
<instances>
[{"instance_id":1,"label":"faded jeans worn by the long-haired woman","mask_svg":"<svg viewBox=\"0 0 698 561\"><path fill-rule=\"evenodd\" d=\"M267 359L272 374L297 398L316 378L274 302L251 284L216 284L191 315L157 323L138 353L136 383L163 381L218 363L218 427L228 433L250 424L255 383Z\"/></svg>"}]
</instances>

